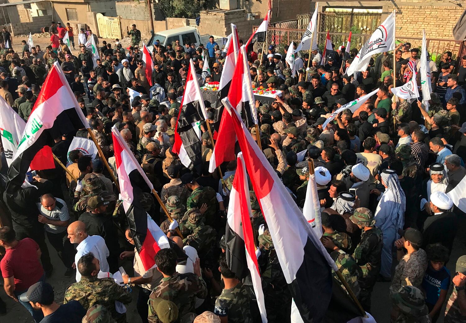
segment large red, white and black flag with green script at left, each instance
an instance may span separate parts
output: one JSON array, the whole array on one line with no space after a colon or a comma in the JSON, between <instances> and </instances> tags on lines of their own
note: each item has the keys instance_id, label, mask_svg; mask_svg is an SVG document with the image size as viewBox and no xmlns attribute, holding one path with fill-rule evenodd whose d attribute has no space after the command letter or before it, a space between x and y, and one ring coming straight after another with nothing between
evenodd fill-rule
<instances>
[{"instance_id":1,"label":"large red, white and black flag with green script at left","mask_svg":"<svg viewBox=\"0 0 466 323\"><path fill-rule=\"evenodd\" d=\"M89 123L82 114L60 65L55 62L34 103L8 169L7 191L9 188L14 189L14 186L21 186L29 167L34 169L31 161L43 147L53 146L54 138L82 128L89 128Z\"/></svg>"}]
</instances>

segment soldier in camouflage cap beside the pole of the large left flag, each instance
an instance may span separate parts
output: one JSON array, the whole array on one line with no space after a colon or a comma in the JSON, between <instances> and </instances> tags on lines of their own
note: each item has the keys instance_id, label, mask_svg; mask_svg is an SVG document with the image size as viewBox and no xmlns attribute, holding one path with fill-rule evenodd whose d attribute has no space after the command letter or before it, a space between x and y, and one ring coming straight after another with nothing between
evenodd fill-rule
<instances>
[{"instance_id":1,"label":"soldier in camouflage cap beside the pole of the large left flag","mask_svg":"<svg viewBox=\"0 0 466 323\"><path fill-rule=\"evenodd\" d=\"M89 192L86 195L84 189ZM99 195L103 198L103 201L107 203L107 213L111 215L112 212L115 210L115 204L117 201L117 197L115 194L112 194L108 191L105 191L105 184L103 181L97 176L96 174L90 175L89 178L82 181L82 186L79 185L76 187L75 197L73 199L73 210L76 211L78 214L83 212L90 212L91 209L88 207L87 203L90 197ZM80 191L81 190L81 191Z\"/></svg>"}]
</instances>

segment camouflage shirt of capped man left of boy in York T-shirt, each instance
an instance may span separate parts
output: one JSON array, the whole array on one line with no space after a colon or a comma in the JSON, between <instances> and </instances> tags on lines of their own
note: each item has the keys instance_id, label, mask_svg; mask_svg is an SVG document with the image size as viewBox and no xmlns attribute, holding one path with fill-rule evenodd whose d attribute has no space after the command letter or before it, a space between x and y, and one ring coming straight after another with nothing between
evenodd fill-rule
<instances>
[{"instance_id":1,"label":"camouflage shirt of capped man left of boy in York T-shirt","mask_svg":"<svg viewBox=\"0 0 466 323\"><path fill-rule=\"evenodd\" d=\"M423 249L406 254L397 264L390 286L390 295L406 285L421 289L422 279L427 269L427 255Z\"/></svg>"}]
</instances>

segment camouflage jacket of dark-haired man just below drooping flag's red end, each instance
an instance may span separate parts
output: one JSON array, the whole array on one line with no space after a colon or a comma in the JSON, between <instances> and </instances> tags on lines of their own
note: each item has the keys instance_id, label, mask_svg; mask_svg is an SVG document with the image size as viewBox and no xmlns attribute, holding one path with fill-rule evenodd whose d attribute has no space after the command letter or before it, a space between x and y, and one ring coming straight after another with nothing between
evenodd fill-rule
<instances>
[{"instance_id":1,"label":"camouflage jacket of dark-haired man just below drooping flag's red end","mask_svg":"<svg viewBox=\"0 0 466 323\"><path fill-rule=\"evenodd\" d=\"M153 308L153 302L157 297L175 303L178 306L178 317L182 317L189 312L194 312L194 304L196 303L194 296L207 297L207 286L202 277L192 273L179 274L175 272L173 276L162 278L149 296L149 323L160 322Z\"/></svg>"}]
</instances>

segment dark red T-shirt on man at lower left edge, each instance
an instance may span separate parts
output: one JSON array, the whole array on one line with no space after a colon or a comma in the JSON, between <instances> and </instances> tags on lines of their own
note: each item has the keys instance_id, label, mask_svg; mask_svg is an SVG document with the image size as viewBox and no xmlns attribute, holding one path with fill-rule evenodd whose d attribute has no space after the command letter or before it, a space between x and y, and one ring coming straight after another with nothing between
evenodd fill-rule
<instances>
[{"instance_id":1,"label":"dark red T-shirt on man at lower left edge","mask_svg":"<svg viewBox=\"0 0 466 323\"><path fill-rule=\"evenodd\" d=\"M24 238L18 244L6 250L0 262L3 278L14 277L14 290L22 291L37 283L44 269L37 258L39 245L31 238Z\"/></svg>"}]
</instances>

